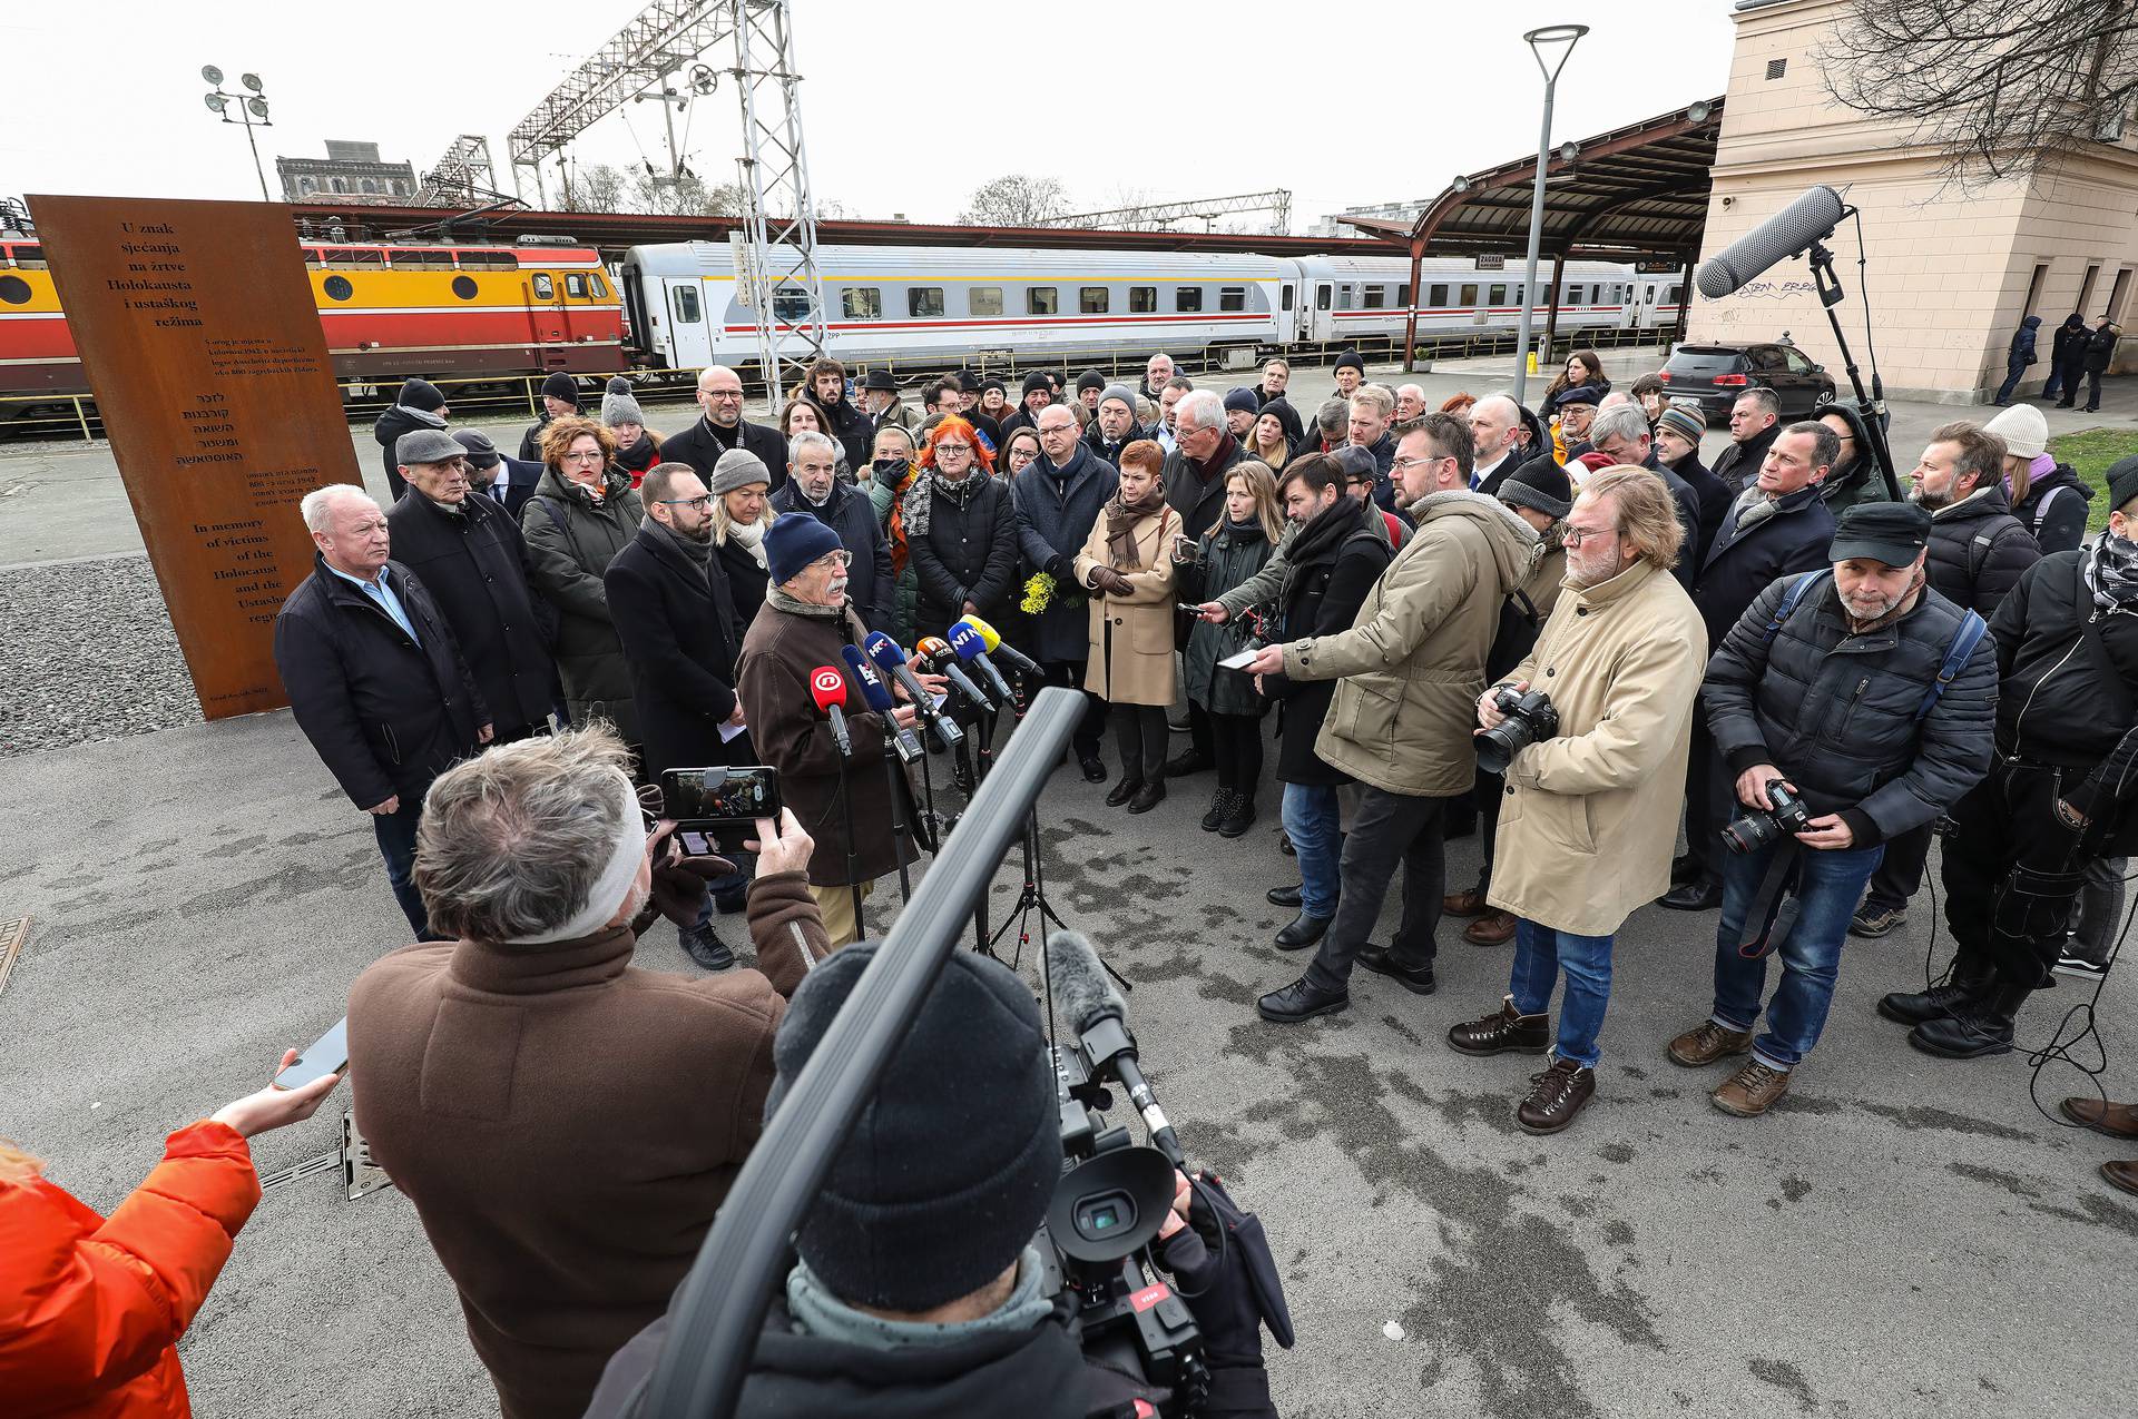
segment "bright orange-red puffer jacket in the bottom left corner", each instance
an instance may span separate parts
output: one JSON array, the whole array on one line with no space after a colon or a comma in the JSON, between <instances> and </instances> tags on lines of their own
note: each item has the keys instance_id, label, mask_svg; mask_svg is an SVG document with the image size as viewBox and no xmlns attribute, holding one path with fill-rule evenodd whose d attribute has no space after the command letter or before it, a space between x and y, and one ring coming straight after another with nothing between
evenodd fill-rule
<instances>
[{"instance_id":1,"label":"bright orange-red puffer jacket in the bottom left corner","mask_svg":"<svg viewBox=\"0 0 2138 1419\"><path fill-rule=\"evenodd\" d=\"M11 1419L184 1419L177 1338L261 1182L229 1124L199 1122L109 1220L36 1180L0 1184L0 1395Z\"/></svg>"}]
</instances>

